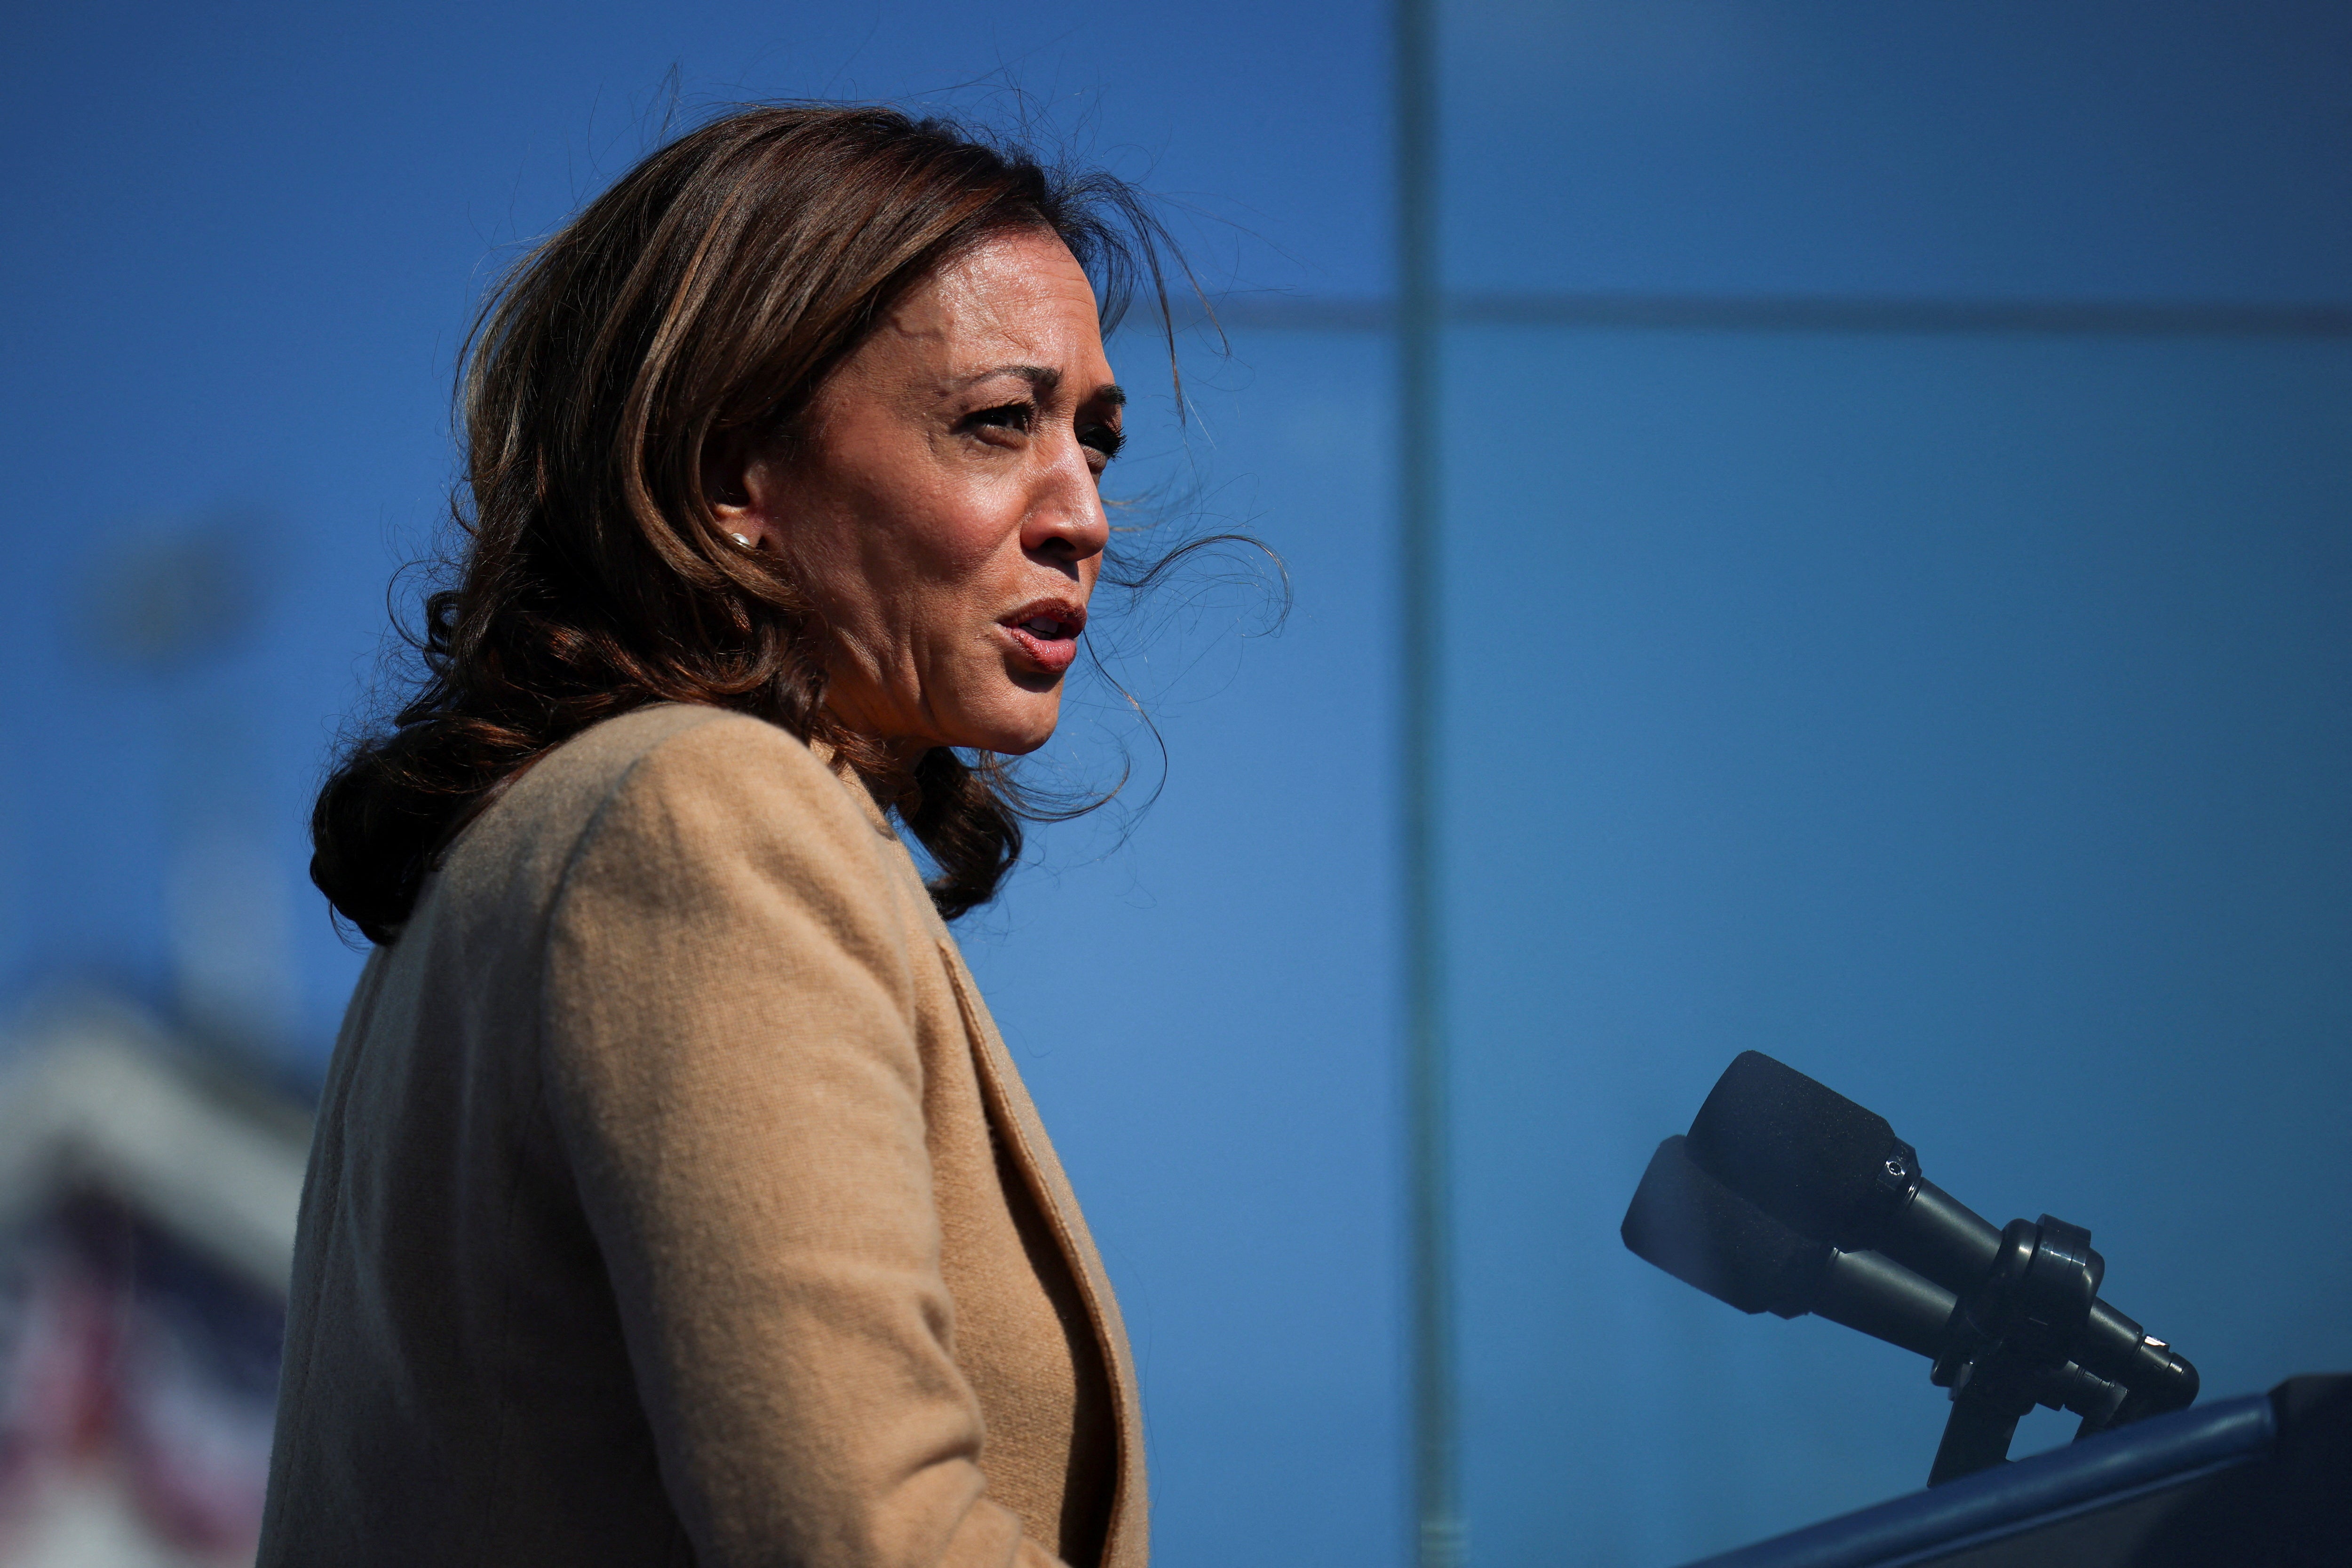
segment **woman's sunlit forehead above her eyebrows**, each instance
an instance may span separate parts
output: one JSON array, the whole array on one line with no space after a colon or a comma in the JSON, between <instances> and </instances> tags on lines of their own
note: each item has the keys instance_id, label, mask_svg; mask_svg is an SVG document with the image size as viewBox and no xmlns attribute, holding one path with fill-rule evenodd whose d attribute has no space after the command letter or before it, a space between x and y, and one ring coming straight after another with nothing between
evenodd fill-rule
<instances>
[{"instance_id":1,"label":"woman's sunlit forehead above her eyebrows","mask_svg":"<svg viewBox=\"0 0 2352 1568\"><path fill-rule=\"evenodd\" d=\"M941 371L1018 357L1108 378L1094 284L1049 230L971 247L908 289L866 348Z\"/></svg>"}]
</instances>

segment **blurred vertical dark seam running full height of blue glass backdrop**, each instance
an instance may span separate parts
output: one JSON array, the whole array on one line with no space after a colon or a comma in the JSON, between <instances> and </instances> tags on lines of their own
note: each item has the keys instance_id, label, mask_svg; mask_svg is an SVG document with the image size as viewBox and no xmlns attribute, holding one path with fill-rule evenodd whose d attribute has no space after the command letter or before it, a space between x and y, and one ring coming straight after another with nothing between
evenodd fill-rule
<instances>
[{"instance_id":1,"label":"blurred vertical dark seam running full height of blue glass backdrop","mask_svg":"<svg viewBox=\"0 0 2352 1568\"><path fill-rule=\"evenodd\" d=\"M1395 0L1397 118L1397 512L1395 646L1402 701L1404 1072L1414 1375L1414 1563L1458 1568L1451 1194L1437 745L1444 670L1439 583L1437 7Z\"/></svg>"}]
</instances>

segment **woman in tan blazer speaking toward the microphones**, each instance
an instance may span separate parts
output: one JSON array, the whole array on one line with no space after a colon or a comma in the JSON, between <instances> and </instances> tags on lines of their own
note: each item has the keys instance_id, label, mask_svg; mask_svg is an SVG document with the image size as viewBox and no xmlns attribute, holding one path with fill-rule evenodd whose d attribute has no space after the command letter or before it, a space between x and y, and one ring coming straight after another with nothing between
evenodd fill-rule
<instances>
[{"instance_id":1,"label":"woman in tan blazer speaking toward the microphones","mask_svg":"<svg viewBox=\"0 0 2352 1568\"><path fill-rule=\"evenodd\" d=\"M1103 562L1089 273L1157 237L762 108L492 301L428 682L313 820L376 950L263 1563L1145 1561L1117 1305L943 917L1021 846L957 750L1051 736Z\"/></svg>"}]
</instances>

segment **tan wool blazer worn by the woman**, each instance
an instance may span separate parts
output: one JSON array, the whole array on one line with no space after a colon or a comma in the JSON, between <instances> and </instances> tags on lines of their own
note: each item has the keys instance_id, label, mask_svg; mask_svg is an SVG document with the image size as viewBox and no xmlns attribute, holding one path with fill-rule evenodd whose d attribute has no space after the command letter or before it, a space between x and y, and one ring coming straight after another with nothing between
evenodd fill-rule
<instances>
[{"instance_id":1,"label":"tan wool blazer worn by the woman","mask_svg":"<svg viewBox=\"0 0 2352 1568\"><path fill-rule=\"evenodd\" d=\"M913 860L786 731L463 832L320 1107L261 1563L1143 1568L1094 1241Z\"/></svg>"}]
</instances>

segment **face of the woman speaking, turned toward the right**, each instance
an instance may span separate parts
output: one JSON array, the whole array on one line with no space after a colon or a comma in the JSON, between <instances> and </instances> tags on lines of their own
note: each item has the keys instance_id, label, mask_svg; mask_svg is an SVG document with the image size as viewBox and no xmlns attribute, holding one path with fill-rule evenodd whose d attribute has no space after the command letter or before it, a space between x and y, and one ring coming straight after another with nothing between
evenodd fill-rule
<instances>
[{"instance_id":1,"label":"face of the woman speaking, turned toward the right","mask_svg":"<svg viewBox=\"0 0 2352 1568\"><path fill-rule=\"evenodd\" d=\"M818 388L804 440L710 475L720 527L774 550L833 628L837 719L903 762L1047 743L1124 402L1070 249L1011 233L898 301Z\"/></svg>"}]
</instances>

